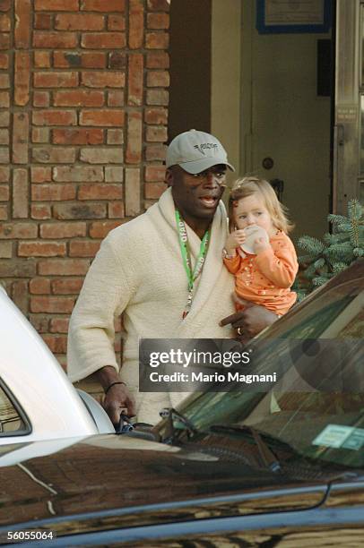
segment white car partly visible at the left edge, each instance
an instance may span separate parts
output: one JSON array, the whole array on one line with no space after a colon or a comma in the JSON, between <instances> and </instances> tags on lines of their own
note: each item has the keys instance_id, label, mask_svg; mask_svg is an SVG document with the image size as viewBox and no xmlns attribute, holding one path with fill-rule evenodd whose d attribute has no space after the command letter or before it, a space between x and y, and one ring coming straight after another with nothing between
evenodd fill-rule
<instances>
[{"instance_id":1,"label":"white car partly visible at the left edge","mask_svg":"<svg viewBox=\"0 0 364 548\"><path fill-rule=\"evenodd\" d=\"M0 446L114 432L0 286Z\"/></svg>"}]
</instances>

